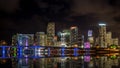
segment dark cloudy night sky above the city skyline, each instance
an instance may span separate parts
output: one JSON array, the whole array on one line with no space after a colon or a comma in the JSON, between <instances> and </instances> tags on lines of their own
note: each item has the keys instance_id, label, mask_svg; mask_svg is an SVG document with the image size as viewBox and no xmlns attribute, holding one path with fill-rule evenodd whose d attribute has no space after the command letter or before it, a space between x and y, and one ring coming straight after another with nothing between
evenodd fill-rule
<instances>
[{"instance_id":1,"label":"dark cloudy night sky above the city skyline","mask_svg":"<svg viewBox=\"0 0 120 68\"><path fill-rule=\"evenodd\" d=\"M51 21L56 31L77 25L81 32L104 22L118 36L120 0L0 0L0 40L11 40L16 33L46 31Z\"/></svg>"}]
</instances>

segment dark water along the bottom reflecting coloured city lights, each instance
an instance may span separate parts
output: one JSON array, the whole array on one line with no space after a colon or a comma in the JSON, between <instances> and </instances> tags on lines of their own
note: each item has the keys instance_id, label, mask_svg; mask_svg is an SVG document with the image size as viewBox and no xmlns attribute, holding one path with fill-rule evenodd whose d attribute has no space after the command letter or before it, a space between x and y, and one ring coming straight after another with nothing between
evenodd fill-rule
<instances>
[{"instance_id":1,"label":"dark water along the bottom reflecting coloured city lights","mask_svg":"<svg viewBox=\"0 0 120 68\"><path fill-rule=\"evenodd\" d=\"M2 68L120 68L115 54L79 57L11 58L0 59Z\"/></svg>"}]
</instances>

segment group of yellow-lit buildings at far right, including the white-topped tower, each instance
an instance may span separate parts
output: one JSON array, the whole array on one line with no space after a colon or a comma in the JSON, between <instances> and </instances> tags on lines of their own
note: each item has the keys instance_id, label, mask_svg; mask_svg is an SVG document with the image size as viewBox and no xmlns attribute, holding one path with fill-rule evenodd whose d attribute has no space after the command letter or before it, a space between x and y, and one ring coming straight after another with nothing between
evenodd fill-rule
<instances>
[{"instance_id":1,"label":"group of yellow-lit buildings at far right, including the white-topped tower","mask_svg":"<svg viewBox=\"0 0 120 68\"><path fill-rule=\"evenodd\" d=\"M96 42L100 47L107 48L110 45L119 45L118 38L112 38L112 32L107 32L106 24L99 24L99 34Z\"/></svg>"}]
</instances>

